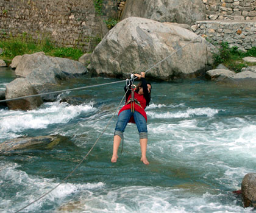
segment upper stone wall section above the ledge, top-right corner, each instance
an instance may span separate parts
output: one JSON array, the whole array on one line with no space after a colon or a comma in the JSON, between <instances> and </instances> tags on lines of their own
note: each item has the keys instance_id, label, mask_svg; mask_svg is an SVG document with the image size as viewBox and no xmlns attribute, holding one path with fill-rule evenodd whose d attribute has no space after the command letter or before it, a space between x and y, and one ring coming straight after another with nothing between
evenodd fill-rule
<instances>
[{"instance_id":1,"label":"upper stone wall section above the ledge, top-right corner","mask_svg":"<svg viewBox=\"0 0 256 213\"><path fill-rule=\"evenodd\" d=\"M256 20L256 0L202 0L205 19Z\"/></svg>"}]
</instances>

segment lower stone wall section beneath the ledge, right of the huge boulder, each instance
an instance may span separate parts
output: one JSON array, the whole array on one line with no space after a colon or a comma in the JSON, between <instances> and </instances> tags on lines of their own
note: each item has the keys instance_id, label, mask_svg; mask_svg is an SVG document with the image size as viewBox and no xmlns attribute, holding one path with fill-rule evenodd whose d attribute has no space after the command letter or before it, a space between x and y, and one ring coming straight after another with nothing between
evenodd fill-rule
<instances>
[{"instance_id":1,"label":"lower stone wall section beneath the ledge, right of the huge boulder","mask_svg":"<svg viewBox=\"0 0 256 213\"><path fill-rule=\"evenodd\" d=\"M230 47L237 46L244 52L256 47L256 21L254 20L197 21L191 28L213 44L227 42Z\"/></svg>"}]
</instances>

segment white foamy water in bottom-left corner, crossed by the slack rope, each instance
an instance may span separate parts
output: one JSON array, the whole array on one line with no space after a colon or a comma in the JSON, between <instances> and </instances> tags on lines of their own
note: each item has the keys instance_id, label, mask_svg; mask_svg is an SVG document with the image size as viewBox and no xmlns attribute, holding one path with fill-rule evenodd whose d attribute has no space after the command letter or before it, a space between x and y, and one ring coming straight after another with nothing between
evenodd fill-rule
<instances>
[{"instance_id":1,"label":"white foamy water in bottom-left corner, crossed by the slack rope","mask_svg":"<svg viewBox=\"0 0 256 213\"><path fill-rule=\"evenodd\" d=\"M8 197L0 200L0 206L3 208L0 208L2 212L17 211L59 184L56 183L57 180L30 176L19 169L20 166L18 166L18 164L0 164L1 189L13 190L13 187L15 187L15 189L18 190L15 197L12 198L12 201L10 201ZM8 183L9 186L6 186L6 183ZM76 194L77 192L91 194L90 190L103 189L104 187L105 184L102 182L85 184L62 183L50 194L30 205L27 210L35 212L38 211L45 202L48 204L58 201L62 203L62 200L70 194Z\"/></svg>"}]
</instances>

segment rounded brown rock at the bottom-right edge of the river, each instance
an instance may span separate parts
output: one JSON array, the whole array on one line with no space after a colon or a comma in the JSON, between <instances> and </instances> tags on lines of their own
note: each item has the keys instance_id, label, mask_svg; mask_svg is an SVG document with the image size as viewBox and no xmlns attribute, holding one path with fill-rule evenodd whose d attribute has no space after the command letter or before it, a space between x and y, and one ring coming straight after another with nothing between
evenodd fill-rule
<instances>
[{"instance_id":1,"label":"rounded brown rock at the bottom-right edge of the river","mask_svg":"<svg viewBox=\"0 0 256 213\"><path fill-rule=\"evenodd\" d=\"M244 176L242 185L242 197L244 207L256 207L256 173L247 173Z\"/></svg>"}]
</instances>

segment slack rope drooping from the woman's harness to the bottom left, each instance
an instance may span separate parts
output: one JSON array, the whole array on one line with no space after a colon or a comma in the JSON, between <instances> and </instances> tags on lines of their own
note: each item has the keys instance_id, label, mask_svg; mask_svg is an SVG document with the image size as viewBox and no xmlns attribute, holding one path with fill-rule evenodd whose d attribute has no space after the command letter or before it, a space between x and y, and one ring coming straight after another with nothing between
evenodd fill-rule
<instances>
[{"instance_id":1,"label":"slack rope drooping from the woman's harness to the bottom left","mask_svg":"<svg viewBox=\"0 0 256 213\"><path fill-rule=\"evenodd\" d=\"M127 92L126 92L127 93ZM126 97L126 94L124 94L124 97ZM27 204L26 206L24 206L23 208L19 209L17 212L22 211L23 209L26 209L28 206L32 205L33 203L37 202L38 200L41 200L41 198L45 197L46 195L50 194L54 189L56 189L57 187L60 186L60 184L64 183L64 181L66 181L69 176L73 175L73 173L77 170L77 168L82 164L82 162L85 160L85 158L87 158L87 156L91 153L91 151L93 150L94 146L97 144L97 142L99 141L99 139L101 138L101 136L104 134L104 132L107 130L108 125L110 124L110 121L113 119L113 117L116 114L116 111L118 110L119 106L121 105L121 103L124 100L121 100L121 102L119 103L119 105L116 107L115 112L113 113L113 116L108 120L107 126L104 128L104 130L102 131L102 133L99 135L98 139L94 142L93 146L91 147L91 149L88 151L88 153L84 156L84 158L79 162L79 164L77 164L77 166L72 170L72 172L69 173L68 176L66 176L66 178L64 178L59 184L57 184L55 187L53 187L51 190L49 190L48 192L46 192L45 194L41 195L41 197L37 198L36 200L32 201L31 203Z\"/></svg>"}]
</instances>

